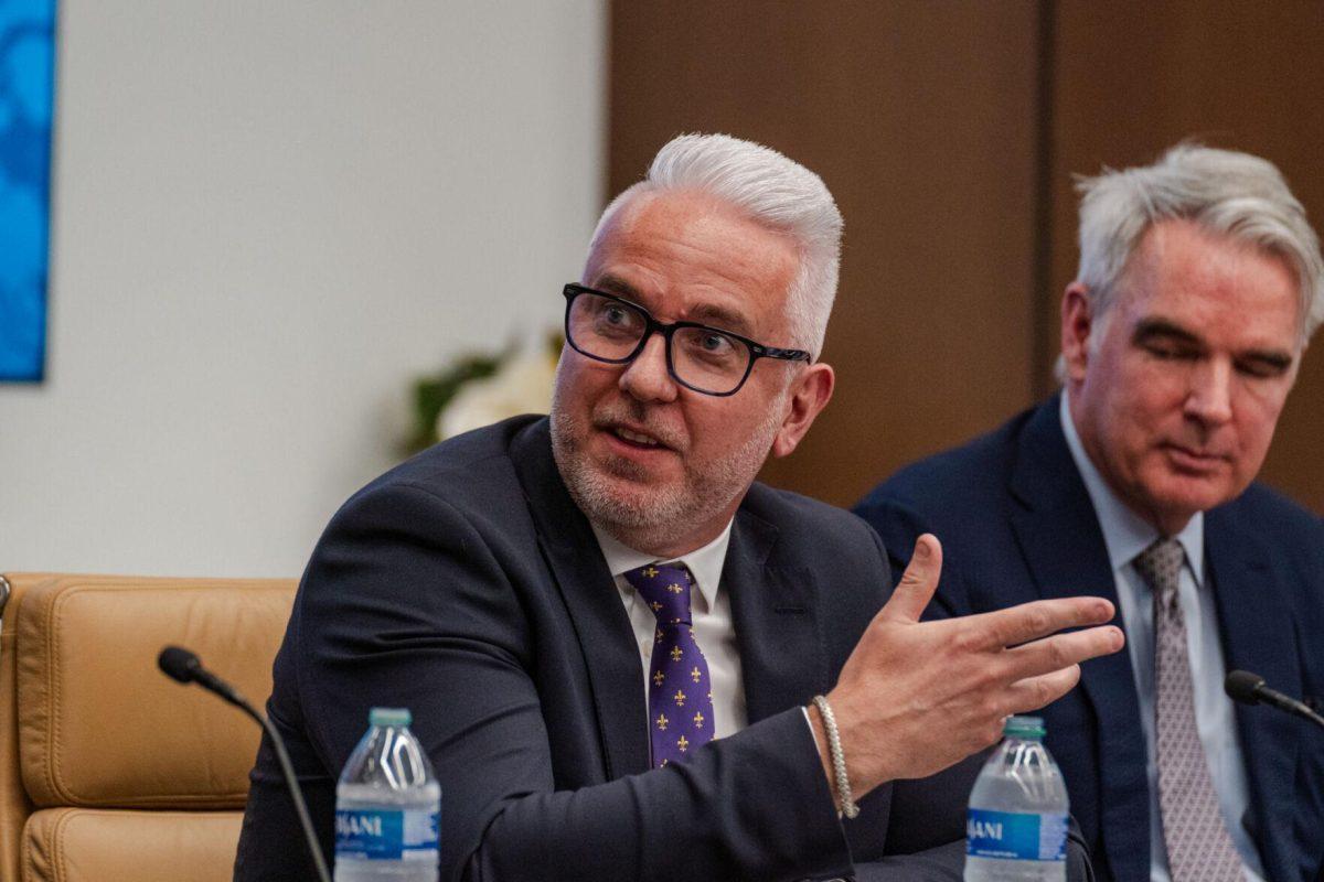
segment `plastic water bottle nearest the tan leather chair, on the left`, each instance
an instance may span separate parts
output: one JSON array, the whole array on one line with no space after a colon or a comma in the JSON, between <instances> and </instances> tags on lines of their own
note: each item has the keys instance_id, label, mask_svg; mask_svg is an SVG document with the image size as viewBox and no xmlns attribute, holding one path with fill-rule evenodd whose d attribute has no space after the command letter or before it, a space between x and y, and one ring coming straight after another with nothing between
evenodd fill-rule
<instances>
[{"instance_id":1,"label":"plastic water bottle nearest the tan leather chair, on the left","mask_svg":"<svg viewBox=\"0 0 1324 882\"><path fill-rule=\"evenodd\" d=\"M335 882L437 882L441 785L408 710L373 707L335 788Z\"/></svg>"}]
</instances>

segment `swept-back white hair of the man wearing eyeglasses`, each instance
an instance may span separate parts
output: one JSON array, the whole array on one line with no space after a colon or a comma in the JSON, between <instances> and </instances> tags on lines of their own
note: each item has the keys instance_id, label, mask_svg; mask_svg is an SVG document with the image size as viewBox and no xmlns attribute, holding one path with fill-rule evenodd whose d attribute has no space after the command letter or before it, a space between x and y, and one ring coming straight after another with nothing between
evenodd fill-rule
<instances>
[{"instance_id":1,"label":"swept-back white hair of the man wearing eyeglasses","mask_svg":"<svg viewBox=\"0 0 1324 882\"><path fill-rule=\"evenodd\" d=\"M681 135L653 157L647 177L606 206L589 254L612 220L643 193L699 190L794 239L800 270L786 295L793 344L817 358L841 271L841 212L822 179L771 147L730 135Z\"/></svg>"}]
</instances>

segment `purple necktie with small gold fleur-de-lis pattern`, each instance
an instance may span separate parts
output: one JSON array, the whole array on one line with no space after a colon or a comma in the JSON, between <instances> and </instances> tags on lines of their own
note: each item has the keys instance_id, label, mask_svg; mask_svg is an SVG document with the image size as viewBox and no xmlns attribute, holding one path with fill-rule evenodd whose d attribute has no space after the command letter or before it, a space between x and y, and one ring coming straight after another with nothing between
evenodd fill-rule
<instances>
[{"instance_id":1,"label":"purple necktie with small gold fleur-de-lis pattern","mask_svg":"<svg viewBox=\"0 0 1324 882\"><path fill-rule=\"evenodd\" d=\"M653 766L661 768L712 739L708 661L690 616L694 579L683 565L650 563L626 573L625 581L658 620L649 664L649 742Z\"/></svg>"}]
</instances>

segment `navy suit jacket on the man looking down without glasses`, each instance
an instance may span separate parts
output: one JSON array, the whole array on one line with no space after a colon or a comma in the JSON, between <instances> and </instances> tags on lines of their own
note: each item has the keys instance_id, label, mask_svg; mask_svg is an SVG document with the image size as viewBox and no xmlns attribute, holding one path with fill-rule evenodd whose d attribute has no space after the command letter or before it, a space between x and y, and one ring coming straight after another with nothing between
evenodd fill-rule
<instances>
[{"instance_id":1,"label":"navy suit jacket on the man looking down without glasses","mask_svg":"<svg viewBox=\"0 0 1324 882\"><path fill-rule=\"evenodd\" d=\"M943 542L933 615L1098 595L1117 603L1103 532L1058 418L1058 399L996 432L911 465L855 509L894 551ZM899 553L899 554L898 554ZM1223 657L1270 685L1324 696L1324 525L1253 485L1205 513L1205 557ZM1121 627L1120 614L1115 624ZM1222 670L1197 670L1217 677ZM1149 878L1145 742L1128 652L1082 665L1080 686L1045 711L1047 744L1100 879ZM1245 819L1275 881L1324 863L1324 733L1268 707L1237 707L1251 809Z\"/></svg>"}]
</instances>

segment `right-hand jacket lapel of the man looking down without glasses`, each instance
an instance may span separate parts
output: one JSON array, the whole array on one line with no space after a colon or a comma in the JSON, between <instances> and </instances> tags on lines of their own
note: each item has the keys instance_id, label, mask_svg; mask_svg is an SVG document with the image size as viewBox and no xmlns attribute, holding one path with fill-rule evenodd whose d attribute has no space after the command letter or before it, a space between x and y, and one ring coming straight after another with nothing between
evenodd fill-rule
<instances>
[{"instance_id":1,"label":"right-hand jacket lapel of the man looking down without glasses","mask_svg":"<svg viewBox=\"0 0 1324 882\"><path fill-rule=\"evenodd\" d=\"M1268 554L1254 533L1241 529L1235 502L1205 517L1205 558L1218 608L1223 661L1229 670L1253 670L1274 689L1301 692L1292 614L1275 579ZM1215 676L1221 676L1218 672ZM1296 731L1287 714L1270 707L1235 705L1237 734L1251 791L1251 824L1270 878L1286 879L1278 866L1291 853L1292 774Z\"/></svg>"}]
</instances>

